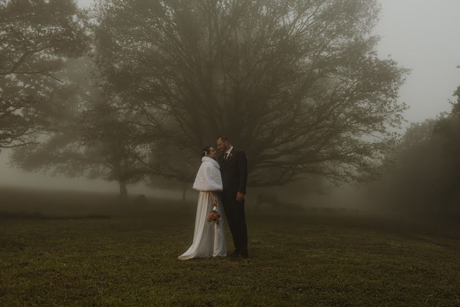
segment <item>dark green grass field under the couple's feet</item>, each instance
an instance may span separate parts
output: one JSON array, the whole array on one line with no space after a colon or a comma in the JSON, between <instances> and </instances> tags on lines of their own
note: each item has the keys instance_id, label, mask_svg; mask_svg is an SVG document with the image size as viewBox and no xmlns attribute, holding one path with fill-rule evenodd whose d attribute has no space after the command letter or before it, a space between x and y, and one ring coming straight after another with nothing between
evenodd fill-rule
<instances>
[{"instance_id":1,"label":"dark green grass field under the couple's feet","mask_svg":"<svg viewBox=\"0 0 460 307\"><path fill-rule=\"evenodd\" d=\"M248 211L249 259L179 261L192 203L0 191L2 306L460 305L454 223Z\"/></svg>"}]
</instances>

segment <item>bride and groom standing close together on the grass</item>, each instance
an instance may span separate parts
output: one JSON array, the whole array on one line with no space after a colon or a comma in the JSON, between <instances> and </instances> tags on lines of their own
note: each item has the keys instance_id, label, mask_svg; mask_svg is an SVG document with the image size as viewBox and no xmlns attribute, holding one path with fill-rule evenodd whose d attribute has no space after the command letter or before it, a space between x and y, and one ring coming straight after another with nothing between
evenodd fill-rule
<instances>
[{"instance_id":1,"label":"bride and groom standing close together on the grass","mask_svg":"<svg viewBox=\"0 0 460 307\"><path fill-rule=\"evenodd\" d=\"M212 146L203 148L202 163L196 174L193 189L200 191L196 208L195 231L192 246L178 257L180 260L227 256L227 241L223 223L209 225L209 211L216 206L226 221L233 237L233 256L248 257L248 231L245 216L245 194L248 179L248 160L245 152L233 148L224 136L217 138L217 149L224 153L216 161Z\"/></svg>"}]
</instances>

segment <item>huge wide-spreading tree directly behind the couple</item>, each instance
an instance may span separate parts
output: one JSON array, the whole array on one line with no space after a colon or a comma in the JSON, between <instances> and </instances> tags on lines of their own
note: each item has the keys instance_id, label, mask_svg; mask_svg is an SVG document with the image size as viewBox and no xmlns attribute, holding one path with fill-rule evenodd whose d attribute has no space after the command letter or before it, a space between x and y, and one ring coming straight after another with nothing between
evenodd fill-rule
<instances>
[{"instance_id":1,"label":"huge wide-spreading tree directly behind the couple","mask_svg":"<svg viewBox=\"0 0 460 307\"><path fill-rule=\"evenodd\" d=\"M247 152L249 185L308 174L352 182L377 170L406 108L397 97L407 70L377 56L379 9L376 0L100 0L98 63L110 91L135 101L123 107L143 115L138 124L175 146L171 161L224 134Z\"/></svg>"}]
</instances>

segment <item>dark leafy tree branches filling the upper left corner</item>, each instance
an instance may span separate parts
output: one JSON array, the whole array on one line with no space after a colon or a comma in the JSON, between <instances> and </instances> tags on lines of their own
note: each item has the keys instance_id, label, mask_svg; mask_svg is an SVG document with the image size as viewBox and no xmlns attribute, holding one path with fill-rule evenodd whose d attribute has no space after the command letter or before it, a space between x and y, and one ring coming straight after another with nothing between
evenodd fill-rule
<instances>
[{"instance_id":1,"label":"dark leafy tree branches filling the upper left corner","mask_svg":"<svg viewBox=\"0 0 460 307\"><path fill-rule=\"evenodd\" d=\"M56 73L89 46L85 24L73 0L0 0L0 150L48 129Z\"/></svg>"}]
</instances>

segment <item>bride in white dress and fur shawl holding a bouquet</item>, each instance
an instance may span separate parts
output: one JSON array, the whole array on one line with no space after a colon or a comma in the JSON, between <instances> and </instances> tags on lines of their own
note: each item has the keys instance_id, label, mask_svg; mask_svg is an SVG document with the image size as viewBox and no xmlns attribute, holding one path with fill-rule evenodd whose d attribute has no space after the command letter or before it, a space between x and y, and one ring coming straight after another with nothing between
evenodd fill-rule
<instances>
[{"instance_id":1,"label":"bride in white dress and fur shawl holding a bouquet","mask_svg":"<svg viewBox=\"0 0 460 307\"><path fill-rule=\"evenodd\" d=\"M214 206L216 206L217 212L222 215L222 221L224 215L220 196L220 191L223 190L221 167L215 161L216 155L217 153L212 146L203 148L202 163L193 183L193 189L200 191L198 208L196 208L193 243L185 253L178 257L180 260L227 256L227 242L223 223L209 225L206 222L209 211Z\"/></svg>"}]
</instances>

